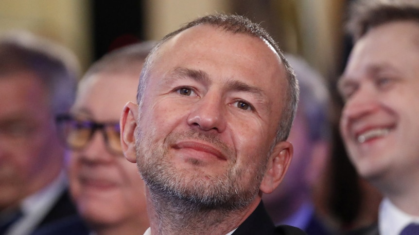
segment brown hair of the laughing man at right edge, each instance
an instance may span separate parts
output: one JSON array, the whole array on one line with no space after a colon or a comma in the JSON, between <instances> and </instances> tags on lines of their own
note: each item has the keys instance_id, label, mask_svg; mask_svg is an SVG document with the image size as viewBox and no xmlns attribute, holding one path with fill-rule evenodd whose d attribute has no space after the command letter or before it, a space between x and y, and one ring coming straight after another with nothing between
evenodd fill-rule
<instances>
[{"instance_id":1,"label":"brown hair of the laughing man at right edge","mask_svg":"<svg viewBox=\"0 0 419 235\"><path fill-rule=\"evenodd\" d=\"M347 31L356 41L371 28L399 20L419 23L419 1L358 0L350 5Z\"/></svg>"}]
</instances>

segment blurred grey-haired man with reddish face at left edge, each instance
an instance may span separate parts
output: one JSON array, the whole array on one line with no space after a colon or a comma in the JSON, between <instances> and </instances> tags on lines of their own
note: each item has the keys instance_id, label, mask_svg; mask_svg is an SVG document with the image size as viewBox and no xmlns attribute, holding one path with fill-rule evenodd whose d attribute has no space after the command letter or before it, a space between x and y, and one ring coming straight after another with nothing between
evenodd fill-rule
<instances>
[{"instance_id":1,"label":"blurred grey-haired man with reddish face at left edge","mask_svg":"<svg viewBox=\"0 0 419 235\"><path fill-rule=\"evenodd\" d=\"M55 125L78 77L67 49L29 33L0 39L0 234L30 234L75 215Z\"/></svg>"}]
</instances>

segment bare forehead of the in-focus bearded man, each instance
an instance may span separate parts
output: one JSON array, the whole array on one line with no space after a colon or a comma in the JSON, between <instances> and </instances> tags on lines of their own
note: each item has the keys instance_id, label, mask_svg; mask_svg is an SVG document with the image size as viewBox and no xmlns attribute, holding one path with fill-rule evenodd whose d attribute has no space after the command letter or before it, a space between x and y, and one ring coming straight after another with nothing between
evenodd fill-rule
<instances>
[{"instance_id":1,"label":"bare forehead of the in-focus bearded man","mask_svg":"<svg viewBox=\"0 0 419 235\"><path fill-rule=\"evenodd\" d=\"M264 40L205 24L165 42L156 52L152 77L176 67L203 70L212 78L253 78L247 82L277 89L286 81L279 55Z\"/></svg>"}]
</instances>

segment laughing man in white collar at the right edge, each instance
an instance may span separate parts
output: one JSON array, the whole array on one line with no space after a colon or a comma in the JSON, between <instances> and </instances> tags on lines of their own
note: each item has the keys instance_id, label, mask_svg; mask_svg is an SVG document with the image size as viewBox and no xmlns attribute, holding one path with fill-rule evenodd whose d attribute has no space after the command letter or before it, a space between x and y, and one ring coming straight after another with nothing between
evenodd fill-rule
<instances>
[{"instance_id":1,"label":"laughing man in white collar at the right edge","mask_svg":"<svg viewBox=\"0 0 419 235\"><path fill-rule=\"evenodd\" d=\"M368 232L404 235L419 223L419 1L367 0L352 9L355 45L338 85L341 134L359 174L384 195L378 227Z\"/></svg>"}]
</instances>

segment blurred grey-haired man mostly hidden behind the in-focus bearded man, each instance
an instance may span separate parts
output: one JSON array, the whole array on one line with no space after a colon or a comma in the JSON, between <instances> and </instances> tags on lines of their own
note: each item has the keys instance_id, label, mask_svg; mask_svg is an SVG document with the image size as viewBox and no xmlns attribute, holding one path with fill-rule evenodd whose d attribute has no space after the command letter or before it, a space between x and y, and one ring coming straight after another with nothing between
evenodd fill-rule
<instances>
[{"instance_id":1,"label":"blurred grey-haired man mostly hidden behind the in-focus bearded man","mask_svg":"<svg viewBox=\"0 0 419 235\"><path fill-rule=\"evenodd\" d=\"M276 225L293 225L309 235L331 234L316 215L313 203L313 190L329 156L329 92L324 78L304 60L286 57L300 85L297 114L288 138L294 146L294 156L282 183L262 199Z\"/></svg>"}]
</instances>

